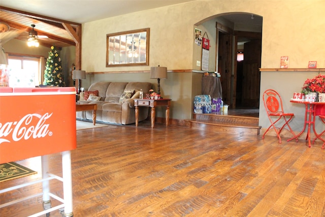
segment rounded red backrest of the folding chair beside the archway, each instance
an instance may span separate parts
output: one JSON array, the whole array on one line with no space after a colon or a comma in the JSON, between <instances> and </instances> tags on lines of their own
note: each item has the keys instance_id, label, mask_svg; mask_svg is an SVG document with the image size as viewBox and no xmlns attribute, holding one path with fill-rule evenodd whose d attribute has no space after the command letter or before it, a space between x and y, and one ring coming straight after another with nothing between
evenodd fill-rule
<instances>
[{"instance_id":1,"label":"rounded red backrest of the folding chair beside the archway","mask_svg":"<svg viewBox=\"0 0 325 217\"><path fill-rule=\"evenodd\" d=\"M282 99L276 90L265 90L263 94L263 103L268 114L283 113Z\"/></svg>"}]
</instances>

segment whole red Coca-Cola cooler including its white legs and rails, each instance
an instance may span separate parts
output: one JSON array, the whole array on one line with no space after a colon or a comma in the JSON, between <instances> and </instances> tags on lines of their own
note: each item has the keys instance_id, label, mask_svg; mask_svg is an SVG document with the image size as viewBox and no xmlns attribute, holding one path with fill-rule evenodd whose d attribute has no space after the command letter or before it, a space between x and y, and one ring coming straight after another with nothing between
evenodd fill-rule
<instances>
[{"instance_id":1,"label":"whole red Coca-Cola cooler including its white legs and rails","mask_svg":"<svg viewBox=\"0 0 325 217\"><path fill-rule=\"evenodd\" d=\"M42 179L0 189L0 194L42 182L44 210L31 216L63 208L63 216L73 216L70 151L76 146L74 87L0 87L0 163L41 156L42 164ZM62 154L62 177L51 174L48 165L48 154L57 152ZM64 199L50 192L50 179L63 182ZM51 197L62 204L51 207ZM14 202L0 204L0 208Z\"/></svg>"}]
</instances>

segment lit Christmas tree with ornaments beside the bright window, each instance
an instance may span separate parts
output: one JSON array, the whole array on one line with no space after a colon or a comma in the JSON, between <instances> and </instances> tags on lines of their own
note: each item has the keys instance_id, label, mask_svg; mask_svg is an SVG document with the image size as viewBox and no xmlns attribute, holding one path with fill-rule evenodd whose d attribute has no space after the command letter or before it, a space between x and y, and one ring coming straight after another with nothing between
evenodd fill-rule
<instances>
[{"instance_id":1,"label":"lit Christmas tree with ornaments beside the bright window","mask_svg":"<svg viewBox=\"0 0 325 217\"><path fill-rule=\"evenodd\" d=\"M54 46L51 46L44 72L44 85L65 86L61 67L61 58Z\"/></svg>"}]
</instances>

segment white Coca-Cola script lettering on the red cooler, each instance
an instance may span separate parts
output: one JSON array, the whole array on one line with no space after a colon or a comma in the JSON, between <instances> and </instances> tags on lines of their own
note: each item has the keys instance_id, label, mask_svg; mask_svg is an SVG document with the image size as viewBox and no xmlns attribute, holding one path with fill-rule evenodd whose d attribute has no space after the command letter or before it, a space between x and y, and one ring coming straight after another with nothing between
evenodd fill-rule
<instances>
[{"instance_id":1,"label":"white Coca-Cola script lettering on the red cooler","mask_svg":"<svg viewBox=\"0 0 325 217\"><path fill-rule=\"evenodd\" d=\"M43 138L47 135L52 136L49 132L49 124L46 120L52 116L53 113L45 113L43 116L37 113L26 114L18 121L0 123L0 144L3 142L19 141L21 139L28 140L29 138ZM35 118L38 119L36 125ZM33 121L34 120L34 121ZM12 134L12 139L8 138Z\"/></svg>"}]
</instances>

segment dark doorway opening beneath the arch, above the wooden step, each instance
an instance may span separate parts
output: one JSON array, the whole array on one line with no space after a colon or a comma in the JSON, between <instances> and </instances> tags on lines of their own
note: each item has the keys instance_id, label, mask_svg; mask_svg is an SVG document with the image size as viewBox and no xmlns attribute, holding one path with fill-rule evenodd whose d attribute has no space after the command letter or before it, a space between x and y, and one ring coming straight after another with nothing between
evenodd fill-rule
<instances>
[{"instance_id":1,"label":"dark doorway opening beneath the arch, above the wooden step","mask_svg":"<svg viewBox=\"0 0 325 217\"><path fill-rule=\"evenodd\" d=\"M232 109L258 109L263 18L236 12L215 15L200 24L211 20L216 27L215 71L221 75L222 100Z\"/></svg>"}]
</instances>

